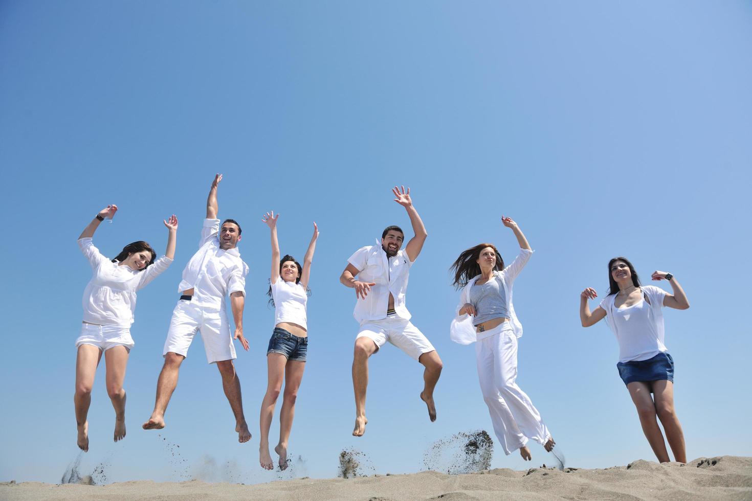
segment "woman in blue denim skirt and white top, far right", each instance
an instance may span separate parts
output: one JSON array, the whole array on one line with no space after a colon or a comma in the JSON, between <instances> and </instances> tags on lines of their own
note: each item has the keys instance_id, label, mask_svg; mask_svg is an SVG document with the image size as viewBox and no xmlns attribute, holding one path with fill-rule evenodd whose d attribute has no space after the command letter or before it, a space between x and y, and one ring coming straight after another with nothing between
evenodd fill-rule
<instances>
[{"instance_id":1,"label":"woman in blue denim skirt and white top, far right","mask_svg":"<svg viewBox=\"0 0 752 501\"><path fill-rule=\"evenodd\" d=\"M684 432L674 411L674 359L663 344L663 306L687 309L687 294L671 273L654 271L653 280L668 280L674 291L640 285L635 267L626 258L608 261L608 295L590 312L588 299L598 297L595 289L581 293L580 319L590 327L602 318L613 330L619 343L619 375L635 403L647 442L661 463L669 462L656 416L663 424L666 439L679 463L687 463ZM650 394L653 394L651 397Z\"/></svg>"}]
</instances>

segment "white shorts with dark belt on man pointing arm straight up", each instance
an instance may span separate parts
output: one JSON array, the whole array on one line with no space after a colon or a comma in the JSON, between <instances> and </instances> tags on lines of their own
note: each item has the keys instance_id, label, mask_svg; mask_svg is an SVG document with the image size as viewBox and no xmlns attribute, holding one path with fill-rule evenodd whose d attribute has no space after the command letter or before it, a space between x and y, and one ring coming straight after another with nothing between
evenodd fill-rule
<instances>
[{"instance_id":1,"label":"white shorts with dark belt on man pointing arm straight up","mask_svg":"<svg viewBox=\"0 0 752 501\"><path fill-rule=\"evenodd\" d=\"M172 311L162 356L173 352L187 357L190 343L198 331L201 331L209 364L237 358L225 309L199 306L184 299L177 301Z\"/></svg>"}]
</instances>

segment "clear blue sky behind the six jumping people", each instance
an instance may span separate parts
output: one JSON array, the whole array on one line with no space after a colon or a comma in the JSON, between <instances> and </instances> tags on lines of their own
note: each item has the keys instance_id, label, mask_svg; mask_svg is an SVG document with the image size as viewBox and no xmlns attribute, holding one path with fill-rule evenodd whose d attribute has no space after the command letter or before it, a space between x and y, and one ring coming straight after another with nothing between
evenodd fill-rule
<instances>
[{"instance_id":1,"label":"clear blue sky behind the six jumping people","mask_svg":"<svg viewBox=\"0 0 752 501\"><path fill-rule=\"evenodd\" d=\"M605 294L614 255L643 277L675 273L692 303L666 313L687 456L752 455L750 53L752 5L741 1L5 0L0 480L59 481L77 454L74 340L90 270L76 237L108 203L120 212L96 234L106 255L140 239L163 249L162 218L180 218L174 264L138 295L123 442L111 441L104 367L97 375L82 466L108 461L111 481L185 479L168 442L194 475L227 479L230 463L235 481L280 477L259 469L257 453L274 319L266 210L282 214L282 252L302 256L311 222L321 230L290 439L305 460L299 475L336 475L339 451L353 446L376 472L414 472L434 440L490 430L474 349L449 340L457 293L447 268L487 240L511 261L502 213L536 251L514 289L525 327L518 382L571 466L654 459L617 375L613 334L578 319L580 291ZM166 440L140 429L216 172L220 216L241 222L250 266L251 351L237 361L253 432L245 445L200 341ZM438 421L418 400L422 367L387 346L371 359L370 422L356 439L358 326L338 276L386 225L409 227L394 184L411 186L429 231L408 308L444 360ZM275 421L271 437L277 430ZM532 466L549 460L537 445L532 453ZM493 459L529 465L500 450Z\"/></svg>"}]
</instances>

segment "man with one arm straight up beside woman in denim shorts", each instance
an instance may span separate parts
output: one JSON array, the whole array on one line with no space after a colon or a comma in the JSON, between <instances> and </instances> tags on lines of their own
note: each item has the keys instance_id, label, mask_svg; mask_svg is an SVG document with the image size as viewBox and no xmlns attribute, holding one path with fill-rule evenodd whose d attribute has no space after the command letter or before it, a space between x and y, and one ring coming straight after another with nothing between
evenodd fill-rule
<instances>
[{"instance_id":1,"label":"man with one arm straight up beside woman in denim shorts","mask_svg":"<svg viewBox=\"0 0 752 501\"><path fill-rule=\"evenodd\" d=\"M165 427L165 410L177 386L180 364L196 332L201 332L206 359L217 364L222 375L222 386L232 412L235 414L235 431L238 442L250 440L250 432L243 415L240 380L232 361L237 358L232 340L239 340L248 351L243 337L243 308L245 305L245 276L248 266L240 258L238 242L241 228L233 219L226 219L220 228L217 219L217 186L222 175L214 177L206 202L206 219L201 231L199 252L193 255L183 270L183 280L178 285L182 296L177 302L170 330L167 333L163 356L165 365L156 383L156 403L144 430L161 430ZM229 294L235 335L230 336L225 310L225 296Z\"/></svg>"}]
</instances>

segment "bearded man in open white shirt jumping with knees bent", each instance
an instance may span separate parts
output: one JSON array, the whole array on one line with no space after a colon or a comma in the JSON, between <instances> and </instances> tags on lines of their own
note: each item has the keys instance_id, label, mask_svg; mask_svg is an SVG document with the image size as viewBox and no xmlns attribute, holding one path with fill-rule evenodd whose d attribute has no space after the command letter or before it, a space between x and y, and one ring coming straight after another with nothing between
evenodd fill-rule
<instances>
[{"instance_id":1,"label":"bearded man in open white shirt jumping with knees bent","mask_svg":"<svg viewBox=\"0 0 752 501\"><path fill-rule=\"evenodd\" d=\"M423 371L425 385L420 399L428 407L429 418L436 421L433 389L441 376L441 358L410 322L410 312L405 307L408 275L413 262L423 249L428 234L410 198L410 189L392 190L394 201L405 207L410 216L415 236L401 250L405 234L398 226L390 226L381 234L381 242L358 249L347 260L347 267L339 281L355 289L356 305L353 316L360 323L353 355L353 388L355 390L354 436L365 433L365 391L368 388L368 358L389 341L426 367ZM358 276L358 279L355 279Z\"/></svg>"}]
</instances>

